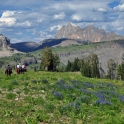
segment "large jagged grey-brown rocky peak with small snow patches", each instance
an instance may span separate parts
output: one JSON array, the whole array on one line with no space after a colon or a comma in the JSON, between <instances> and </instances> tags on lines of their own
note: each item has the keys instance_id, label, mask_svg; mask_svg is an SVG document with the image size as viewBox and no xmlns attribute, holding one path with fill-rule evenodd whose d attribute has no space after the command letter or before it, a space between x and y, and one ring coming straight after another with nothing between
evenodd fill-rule
<instances>
[{"instance_id":1,"label":"large jagged grey-brown rocky peak with small snow patches","mask_svg":"<svg viewBox=\"0 0 124 124\"><path fill-rule=\"evenodd\" d=\"M101 42L124 39L124 36L117 35L114 32L107 33L104 29L96 28L93 25L89 25L84 29L81 29L79 26L75 26L69 22L67 25L62 26L62 28L58 30L55 38L69 38L80 39L82 41Z\"/></svg>"}]
</instances>

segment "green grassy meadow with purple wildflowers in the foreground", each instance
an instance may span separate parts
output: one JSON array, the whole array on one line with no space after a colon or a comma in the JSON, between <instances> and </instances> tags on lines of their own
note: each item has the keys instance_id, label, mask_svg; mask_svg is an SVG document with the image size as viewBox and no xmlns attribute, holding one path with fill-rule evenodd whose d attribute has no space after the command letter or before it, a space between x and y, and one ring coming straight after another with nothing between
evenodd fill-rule
<instances>
[{"instance_id":1,"label":"green grassy meadow with purple wildflowers in the foreground","mask_svg":"<svg viewBox=\"0 0 124 124\"><path fill-rule=\"evenodd\" d=\"M124 83L80 72L0 71L0 124L123 124Z\"/></svg>"}]
</instances>

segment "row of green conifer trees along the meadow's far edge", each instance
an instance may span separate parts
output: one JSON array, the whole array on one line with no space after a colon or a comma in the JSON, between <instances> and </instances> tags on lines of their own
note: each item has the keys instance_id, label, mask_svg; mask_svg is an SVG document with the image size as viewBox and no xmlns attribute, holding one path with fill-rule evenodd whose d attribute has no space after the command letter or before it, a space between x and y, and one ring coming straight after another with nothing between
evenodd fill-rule
<instances>
[{"instance_id":1,"label":"row of green conifer trees along the meadow's far edge","mask_svg":"<svg viewBox=\"0 0 124 124\"><path fill-rule=\"evenodd\" d=\"M118 65L113 59L109 59L107 62L107 73L105 73L101 67L96 54L90 54L85 59L75 58L74 61L68 60L67 65L62 66L59 55L53 53L49 47L45 47L42 50L40 68L47 71L80 71L81 74L86 77L124 80L123 61Z\"/></svg>"}]
</instances>

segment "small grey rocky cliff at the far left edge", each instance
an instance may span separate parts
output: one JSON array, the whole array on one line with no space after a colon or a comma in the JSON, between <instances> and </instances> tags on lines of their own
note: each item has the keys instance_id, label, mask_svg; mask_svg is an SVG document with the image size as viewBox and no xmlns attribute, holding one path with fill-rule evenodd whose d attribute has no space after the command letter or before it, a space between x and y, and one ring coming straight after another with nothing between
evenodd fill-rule
<instances>
[{"instance_id":1,"label":"small grey rocky cliff at the far left edge","mask_svg":"<svg viewBox=\"0 0 124 124\"><path fill-rule=\"evenodd\" d=\"M0 34L0 48L7 49L10 46L10 39Z\"/></svg>"}]
</instances>

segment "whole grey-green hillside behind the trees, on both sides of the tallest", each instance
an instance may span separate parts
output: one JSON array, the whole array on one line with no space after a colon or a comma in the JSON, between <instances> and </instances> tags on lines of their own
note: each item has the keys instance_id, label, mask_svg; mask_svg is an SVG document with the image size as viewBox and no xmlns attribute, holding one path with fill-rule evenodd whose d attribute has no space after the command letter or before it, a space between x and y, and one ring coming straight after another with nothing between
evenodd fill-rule
<instances>
[{"instance_id":1,"label":"whole grey-green hillside behind the trees, on both sides of the tallest","mask_svg":"<svg viewBox=\"0 0 124 124\"><path fill-rule=\"evenodd\" d=\"M57 46L51 47L52 51L59 55L61 63L67 64L68 60L73 61L75 58L85 59L91 53L98 55L99 63L101 64L103 70L107 72L107 61L113 59L116 63L121 63L124 59L124 41L108 41L99 43L90 43L82 45L70 45L66 47ZM4 61L5 64L16 64L15 60L20 58L20 61L26 62L29 65L36 63L40 66L41 62L41 51L42 49L25 53L25 54L15 54L9 58L0 58L0 61Z\"/></svg>"}]
</instances>

